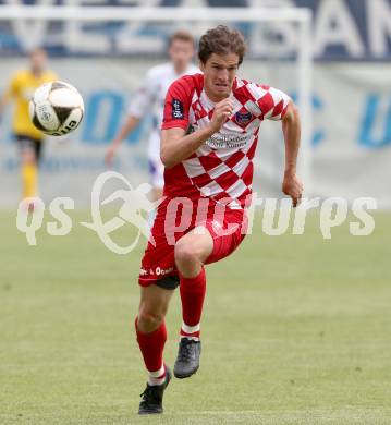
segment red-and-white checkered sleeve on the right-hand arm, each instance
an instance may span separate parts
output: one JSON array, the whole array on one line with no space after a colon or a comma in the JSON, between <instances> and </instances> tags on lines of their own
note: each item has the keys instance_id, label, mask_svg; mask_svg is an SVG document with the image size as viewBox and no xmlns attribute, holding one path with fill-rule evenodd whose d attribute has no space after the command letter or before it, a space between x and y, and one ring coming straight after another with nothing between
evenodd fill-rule
<instances>
[{"instance_id":1,"label":"red-and-white checkered sleeve on the right-hand arm","mask_svg":"<svg viewBox=\"0 0 391 425\"><path fill-rule=\"evenodd\" d=\"M259 96L257 105L264 120L282 120L286 113L291 98L282 90L270 86L257 85Z\"/></svg>"}]
</instances>

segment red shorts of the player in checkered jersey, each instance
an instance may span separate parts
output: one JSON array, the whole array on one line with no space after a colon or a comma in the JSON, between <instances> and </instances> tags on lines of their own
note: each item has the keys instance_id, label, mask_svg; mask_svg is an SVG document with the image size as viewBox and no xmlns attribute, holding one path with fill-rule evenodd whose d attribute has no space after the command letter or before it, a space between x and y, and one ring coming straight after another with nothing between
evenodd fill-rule
<instances>
[{"instance_id":1,"label":"red shorts of the player in checkered jersey","mask_svg":"<svg viewBox=\"0 0 391 425\"><path fill-rule=\"evenodd\" d=\"M213 239L213 250L205 262L210 264L236 250L245 236L247 220L243 209L223 208L208 198L196 202L188 198L166 198L157 210L142 260L138 283L147 287L163 278L178 277L175 243L198 226Z\"/></svg>"}]
</instances>

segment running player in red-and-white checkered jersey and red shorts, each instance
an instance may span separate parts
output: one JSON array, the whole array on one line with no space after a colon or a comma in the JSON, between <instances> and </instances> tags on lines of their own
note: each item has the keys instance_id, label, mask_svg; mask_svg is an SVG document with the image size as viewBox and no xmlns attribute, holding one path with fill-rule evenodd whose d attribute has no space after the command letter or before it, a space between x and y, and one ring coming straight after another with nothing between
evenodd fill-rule
<instances>
[{"instance_id":1,"label":"running player in red-and-white checkered jersey and red shorts","mask_svg":"<svg viewBox=\"0 0 391 425\"><path fill-rule=\"evenodd\" d=\"M296 177L297 109L283 92L236 75L244 53L237 31L223 25L209 29L198 49L204 74L176 80L167 94L161 133L166 198L158 207L138 280L135 327L149 377L139 414L162 412L171 379L163 362L164 316L178 284L183 323L173 373L187 378L199 367L204 266L230 255L244 239L253 158L264 120L282 121L282 191L294 206L302 196Z\"/></svg>"}]
</instances>

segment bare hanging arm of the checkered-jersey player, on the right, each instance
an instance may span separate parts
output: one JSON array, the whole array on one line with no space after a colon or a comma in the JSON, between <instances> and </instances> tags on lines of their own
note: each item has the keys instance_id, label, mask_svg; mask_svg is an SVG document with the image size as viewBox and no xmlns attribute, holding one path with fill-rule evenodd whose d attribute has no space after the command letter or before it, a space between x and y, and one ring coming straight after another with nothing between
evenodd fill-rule
<instances>
[{"instance_id":1,"label":"bare hanging arm of the checkered-jersey player, on the right","mask_svg":"<svg viewBox=\"0 0 391 425\"><path fill-rule=\"evenodd\" d=\"M303 183L296 174L301 120L298 110L292 100L289 101L286 111L282 118L282 131L285 141L285 171L282 192L291 196L293 206L296 207L301 202L303 193Z\"/></svg>"}]
</instances>

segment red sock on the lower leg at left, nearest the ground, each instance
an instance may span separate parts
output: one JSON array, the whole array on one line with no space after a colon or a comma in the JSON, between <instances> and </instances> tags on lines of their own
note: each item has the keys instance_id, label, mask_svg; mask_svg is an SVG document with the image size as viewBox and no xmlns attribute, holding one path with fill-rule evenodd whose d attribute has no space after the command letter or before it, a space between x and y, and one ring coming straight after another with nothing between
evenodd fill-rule
<instances>
[{"instance_id":1,"label":"red sock on the lower leg at left, nearest the ground","mask_svg":"<svg viewBox=\"0 0 391 425\"><path fill-rule=\"evenodd\" d=\"M149 375L155 377L155 375L157 374L154 373L157 373L158 371L160 371L159 375L161 375L161 371L163 371L164 373L163 349L167 340L167 330L164 321L160 325L158 329L154 330L150 333L144 333L137 329L137 318L135 326L137 333L137 342L144 357L145 366L149 373L152 373ZM161 378L161 376L159 377Z\"/></svg>"}]
</instances>

